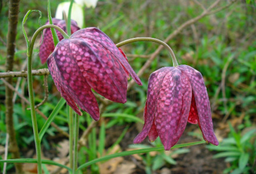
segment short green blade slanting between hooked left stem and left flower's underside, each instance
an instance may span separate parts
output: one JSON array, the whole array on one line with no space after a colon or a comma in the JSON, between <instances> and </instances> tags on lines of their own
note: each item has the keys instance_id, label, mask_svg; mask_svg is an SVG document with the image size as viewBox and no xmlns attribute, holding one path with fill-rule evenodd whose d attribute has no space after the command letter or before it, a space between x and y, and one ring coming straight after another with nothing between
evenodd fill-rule
<instances>
[{"instance_id":1,"label":"short green blade slanting between hooked left stem and left flower's underside","mask_svg":"<svg viewBox=\"0 0 256 174\"><path fill-rule=\"evenodd\" d=\"M66 103L66 100L61 98L61 100L59 100L58 104L56 105L56 107L54 108L52 113L49 115L49 118L45 122L44 126L42 126L42 129L39 133L40 141L42 140L42 137L44 136L44 133L49 128L49 125L51 125L51 122L54 120L55 116L59 113L59 110L61 110L61 108L64 106L65 103Z\"/></svg>"}]
</instances>

